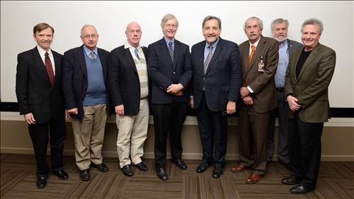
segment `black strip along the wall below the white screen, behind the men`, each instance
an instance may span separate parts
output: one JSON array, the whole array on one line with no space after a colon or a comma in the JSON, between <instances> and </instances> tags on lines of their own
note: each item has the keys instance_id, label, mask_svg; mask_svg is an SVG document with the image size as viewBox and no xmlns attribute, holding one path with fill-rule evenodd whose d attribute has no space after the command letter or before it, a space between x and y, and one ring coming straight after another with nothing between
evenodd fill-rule
<instances>
[{"instance_id":1,"label":"black strip along the wall below the white screen, behind the men","mask_svg":"<svg viewBox=\"0 0 354 199\"><path fill-rule=\"evenodd\" d=\"M1 102L1 111L19 112L17 102ZM188 115L195 116L197 112L191 108L188 109ZM230 115L235 117L237 114ZM331 118L354 118L354 108L331 108Z\"/></svg>"}]
</instances>

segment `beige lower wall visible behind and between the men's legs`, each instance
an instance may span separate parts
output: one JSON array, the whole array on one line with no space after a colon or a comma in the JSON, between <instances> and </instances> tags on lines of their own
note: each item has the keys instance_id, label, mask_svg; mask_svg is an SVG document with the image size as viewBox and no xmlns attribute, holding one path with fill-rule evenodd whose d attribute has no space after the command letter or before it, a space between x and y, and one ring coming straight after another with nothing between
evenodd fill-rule
<instances>
[{"instance_id":1,"label":"beige lower wall visible behind and between the men's legs","mask_svg":"<svg viewBox=\"0 0 354 199\"><path fill-rule=\"evenodd\" d=\"M198 125L195 117L188 117L183 126L183 158L201 159ZM339 119L339 118L338 118ZM152 122L150 122L152 123ZM346 123L340 123L346 125ZM229 122L229 141L227 143L227 159L238 159L237 125L232 120ZM278 130L278 128L276 128ZM115 141L117 140L117 127L114 118L109 118L106 125L103 155L117 157ZM276 138L278 139L278 138ZM354 161L354 127L338 127L325 125L322 135L322 160L323 161ZM149 125L147 141L144 145L146 158L154 158L154 125ZM170 150L168 150L169 152ZM23 120L1 120L1 153L33 154L32 143L28 134L28 127ZM67 123L67 142L64 153L74 155L74 137L71 123ZM276 154L276 152L275 152ZM168 154L168 157L171 157Z\"/></svg>"}]
</instances>

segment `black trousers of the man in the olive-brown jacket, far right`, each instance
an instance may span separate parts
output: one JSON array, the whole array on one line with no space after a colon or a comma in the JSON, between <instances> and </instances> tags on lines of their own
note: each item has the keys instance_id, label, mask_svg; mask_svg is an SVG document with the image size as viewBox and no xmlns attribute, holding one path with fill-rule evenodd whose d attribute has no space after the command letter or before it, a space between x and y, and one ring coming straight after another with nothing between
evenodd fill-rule
<instances>
[{"instance_id":1,"label":"black trousers of the man in the olive-brown jacket, far right","mask_svg":"<svg viewBox=\"0 0 354 199\"><path fill-rule=\"evenodd\" d=\"M305 123L295 113L289 119L289 158L291 175L315 188L321 163L321 135L324 123Z\"/></svg>"}]
</instances>

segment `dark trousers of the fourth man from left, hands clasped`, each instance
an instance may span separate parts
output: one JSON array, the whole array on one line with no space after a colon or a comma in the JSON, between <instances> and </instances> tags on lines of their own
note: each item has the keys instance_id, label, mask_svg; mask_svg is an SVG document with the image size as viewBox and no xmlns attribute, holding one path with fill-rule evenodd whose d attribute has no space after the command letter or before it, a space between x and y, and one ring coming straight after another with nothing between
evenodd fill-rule
<instances>
[{"instance_id":1,"label":"dark trousers of the fourth man from left, hands clasped","mask_svg":"<svg viewBox=\"0 0 354 199\"><path fill-rule=\"evenodd\" d=\"M187 116L187 110L187 102L152 105L156 167L164 167L166 165L166 140L168 134L170 137L172 159L181 159L183 152L181 133L185 117Z\"/></svg>"}]
</instances>

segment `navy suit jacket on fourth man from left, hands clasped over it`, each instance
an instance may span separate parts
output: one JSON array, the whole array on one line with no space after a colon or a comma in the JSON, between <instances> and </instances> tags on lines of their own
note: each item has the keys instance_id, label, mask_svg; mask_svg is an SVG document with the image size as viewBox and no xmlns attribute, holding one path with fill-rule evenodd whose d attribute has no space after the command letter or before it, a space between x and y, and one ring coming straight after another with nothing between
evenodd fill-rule
<instances>
[{"instance_id":1,"label":"navy suit jacket on fourth man from left, hands clasped over it","mask_svg":"<svg viewBox=\"0 0 354 199\"><path fill-rule=\"evenodd\" d=\"M188 101L188 86L192 77L188 45L175 40L172 62L164 38L150 44L147 67L149 77L152 80L152 104ZM171 84L179 83L183 85L183 91L185 93L183 96L175 96L166 92Z\"/></svg>"}]
</instances>

